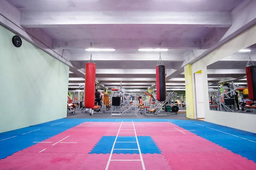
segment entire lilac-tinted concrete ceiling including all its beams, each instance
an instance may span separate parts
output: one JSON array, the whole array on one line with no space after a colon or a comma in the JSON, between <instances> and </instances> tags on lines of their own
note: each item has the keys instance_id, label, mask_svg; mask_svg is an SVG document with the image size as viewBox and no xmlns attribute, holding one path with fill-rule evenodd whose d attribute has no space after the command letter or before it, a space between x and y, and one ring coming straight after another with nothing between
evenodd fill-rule
<instances>
[{"instance_id":1,"label":"entire lilac-tinted concrete ceiling including all its beams","mask_svg":"<svg viewBox=\"0 0 256 170\"><path fill-rule=\"evenodd\" d=\"M120 81L125 88L154 88L159 52L138 49L159 47L169 49L161 52L167 88L183 88L183 66L255 24L255 8L254 0L0 0L1 15L23 28L24 38L70 66L70 89L84 83L90 59L84 49L91 43L116 49L92 53L96 79L108 88ZM15 30L5 18L0 23ZM220 62L243 69L245 61L227 65L230 59ZM214 71L223 69L219 63L209 67L209 78L224 77Z\"/></svg>"}]
</instances>

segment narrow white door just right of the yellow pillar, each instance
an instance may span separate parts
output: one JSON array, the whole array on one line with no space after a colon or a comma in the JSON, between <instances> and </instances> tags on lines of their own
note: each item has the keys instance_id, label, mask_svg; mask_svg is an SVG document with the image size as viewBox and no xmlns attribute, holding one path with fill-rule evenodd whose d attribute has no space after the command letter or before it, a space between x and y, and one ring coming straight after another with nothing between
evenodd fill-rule
<instances>
[{"instance_id":1,"label":"narrow white door just right of the yellow pillar","mask_svg":"<svg viewBox=\"0 0 256 170\"><path fill-rule=\"evenodd\" d=\"M195 103L196 117L204 118L204 85L203 75L195 73Z\"/></svg>"}]
</instances>

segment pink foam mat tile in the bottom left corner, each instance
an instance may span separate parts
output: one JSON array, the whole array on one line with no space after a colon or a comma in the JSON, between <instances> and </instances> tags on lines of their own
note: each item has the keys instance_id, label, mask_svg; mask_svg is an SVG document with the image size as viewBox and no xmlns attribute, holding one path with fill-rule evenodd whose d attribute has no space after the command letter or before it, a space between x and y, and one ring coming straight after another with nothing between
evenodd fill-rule
<instances>
[{"instance_id":1,"label":"pink foam mat tile in the bottom left corner","mask_svg":"<svg viewBox=\"0 0 256 170\"><path fill-rule=\"evenodd\" d=\"M76 170L87 154L15 153L0 160L0 170Z\"/></svg>"}]
</instances>

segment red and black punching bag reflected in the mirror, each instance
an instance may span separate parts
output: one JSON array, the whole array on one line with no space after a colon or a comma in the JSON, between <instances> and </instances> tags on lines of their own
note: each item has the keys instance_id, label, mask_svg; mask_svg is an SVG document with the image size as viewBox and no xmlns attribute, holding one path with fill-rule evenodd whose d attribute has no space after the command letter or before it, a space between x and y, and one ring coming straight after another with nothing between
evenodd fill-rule
<instances>
[{"instance_id":1,"label":"red and black punching bag reflected in the mirror","mask_svg":"<svg viewBox=\"0 0 256 170\"><path fill-rule=\"evenodd\" d=\"M245 70L249 99L256 100L256 65L249 65Z\"/></svg>"}]
</instances>

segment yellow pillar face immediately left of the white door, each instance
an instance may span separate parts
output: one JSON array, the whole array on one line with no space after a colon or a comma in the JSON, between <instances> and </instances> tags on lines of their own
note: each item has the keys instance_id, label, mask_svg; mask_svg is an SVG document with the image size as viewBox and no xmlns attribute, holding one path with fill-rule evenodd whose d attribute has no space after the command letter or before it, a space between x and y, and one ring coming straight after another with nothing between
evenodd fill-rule
<instances>
[{"instance_id":1,"label":"yellow pillar face immediately left of the white door","mask_svg":"<svg viewBox=\"0 0 256 170\"><path fill-rule=\"evenodd\" d=\"M192 66L186 65L184 67L185 85L186 85L186 117L195 119L194 113L194 93L193 93L193 78Z\"/></svg>"}]
</instances>

